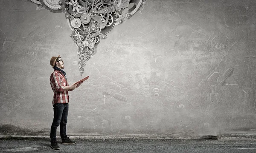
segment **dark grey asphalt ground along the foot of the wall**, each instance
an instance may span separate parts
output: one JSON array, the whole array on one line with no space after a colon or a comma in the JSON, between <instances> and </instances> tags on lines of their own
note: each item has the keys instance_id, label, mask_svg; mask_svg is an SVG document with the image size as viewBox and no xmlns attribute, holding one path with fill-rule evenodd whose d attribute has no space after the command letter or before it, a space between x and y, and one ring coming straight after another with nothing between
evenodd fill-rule
<instances>
[{"instance_id":1,"label":"dark grey asphalt ground along the foot of the wall","mask_svg":"<svg viewBox=\"0 0 256 153\"><path fill-rule=\"evenodd\" d=\"M50 139L1 139L3 153L256 153L256 141L212 139L73 139L50 147Z\"/></svg>"}]
</instances>

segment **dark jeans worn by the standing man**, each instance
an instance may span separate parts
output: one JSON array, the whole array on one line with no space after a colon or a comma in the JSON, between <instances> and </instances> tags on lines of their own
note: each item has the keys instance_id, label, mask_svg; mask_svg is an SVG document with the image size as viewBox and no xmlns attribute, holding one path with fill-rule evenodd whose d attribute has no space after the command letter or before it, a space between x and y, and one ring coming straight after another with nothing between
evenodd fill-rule
<instances>
[{"instance_id":1,"label":"dark jeans worn by the standing man","mask_svg":"<svg viewBox=\"0 0 256 153\"><path fill-rule=\"evenodd\" d=\"M61 139L67 138L66 125L67 125L67 114L68 114L68 103L61 104L56 103L53 105L54 118L51 126L50 138L51 142L56 142L57 127L60 126Z\"/></svg>"}]
</instances>

